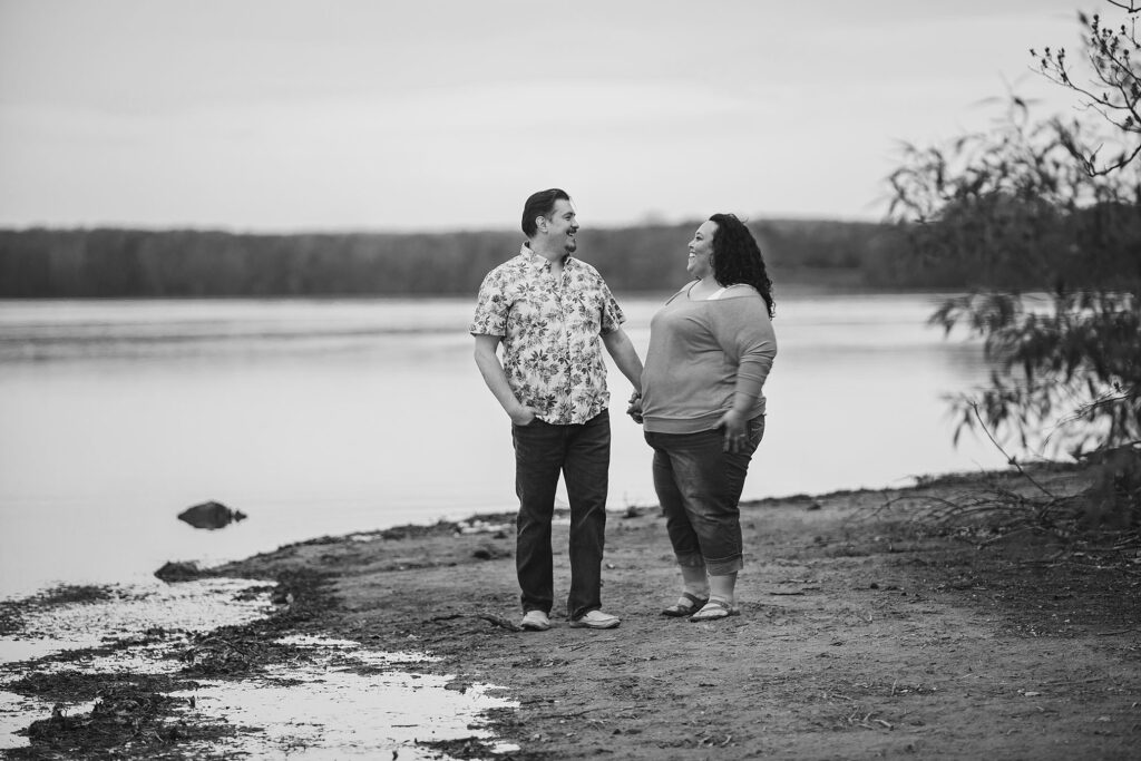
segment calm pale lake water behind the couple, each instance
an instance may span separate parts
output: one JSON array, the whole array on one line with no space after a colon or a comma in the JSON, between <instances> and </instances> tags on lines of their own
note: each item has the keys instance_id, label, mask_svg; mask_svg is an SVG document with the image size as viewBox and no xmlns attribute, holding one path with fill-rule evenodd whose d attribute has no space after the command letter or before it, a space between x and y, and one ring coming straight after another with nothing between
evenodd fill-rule
<instances>
[{"instance_id":1,"label":"calm pale lake water behind the couple","mask_svg":"<svg viewBox=\"0 0 1141 761\"><path fill-rule=\"evenodd\" d=\"M782 296L746 497L996 468L941 396L978 343L931 294ZM659 297L620 301L640 354ZM509 422L467 334L472 299L0 301L0 597L139 582L325 534L512 510ZM610 507L655 503L612 367ZM249 519L176 519L207 500Z\"/></svg>"}]
</instances>

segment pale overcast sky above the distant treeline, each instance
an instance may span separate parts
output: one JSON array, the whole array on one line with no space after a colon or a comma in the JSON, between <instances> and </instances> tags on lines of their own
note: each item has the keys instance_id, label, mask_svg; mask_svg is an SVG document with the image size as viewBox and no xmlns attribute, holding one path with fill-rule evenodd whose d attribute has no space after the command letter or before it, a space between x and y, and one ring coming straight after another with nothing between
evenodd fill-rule
<instances>
[{"instance_id":1,"label":"pale overcast sky above the distant treeline","mask_svg":"<svg viewBox=\"0 0 1141 761\"><path fill-rule=\"evenodd\" d=\"M900 140L984 128L1067 0L0 0L0 226L879 219Z\"/></svg>"}]
</instances>

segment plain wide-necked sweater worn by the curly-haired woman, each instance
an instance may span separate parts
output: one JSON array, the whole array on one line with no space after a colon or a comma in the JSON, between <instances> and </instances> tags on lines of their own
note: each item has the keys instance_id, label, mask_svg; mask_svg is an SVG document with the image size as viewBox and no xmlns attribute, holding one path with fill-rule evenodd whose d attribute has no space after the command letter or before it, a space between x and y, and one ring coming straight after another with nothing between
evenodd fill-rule
<instances>
[{"instance_id":1,"label":"plain wide-necked sweater worn by the curly-haired woman","mask_svg":"<svg viewBox=\"0 0 1141 761\"><path fill-rule=\"evenodd\" d=\"M777 354L764 299L735 289L714 300L673 294L649 324L642 370L644 428L696 434L717 428L736 394L752 398L746 420L764 414L761 389Z\"/></svg>"}]
</instances>

